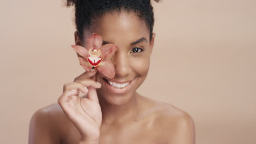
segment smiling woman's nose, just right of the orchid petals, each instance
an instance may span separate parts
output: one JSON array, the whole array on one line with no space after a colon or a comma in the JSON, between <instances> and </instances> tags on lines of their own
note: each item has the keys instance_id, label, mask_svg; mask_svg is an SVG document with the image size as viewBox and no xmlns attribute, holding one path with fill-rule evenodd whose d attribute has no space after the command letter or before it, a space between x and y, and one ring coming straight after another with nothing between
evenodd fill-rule
<instances>
[{"instance_id":1,"label":"smiling woman's nose, just right of the orchid petals","mask_svg":"<svg viewBox=\"0 0 256 144\"><path fill-rule=\"evenodd\" d=\"M113 64L115 77L126 77L131 73L129 56L127 53L117 50L114 54Z\"/></svg>"}]
</instances>

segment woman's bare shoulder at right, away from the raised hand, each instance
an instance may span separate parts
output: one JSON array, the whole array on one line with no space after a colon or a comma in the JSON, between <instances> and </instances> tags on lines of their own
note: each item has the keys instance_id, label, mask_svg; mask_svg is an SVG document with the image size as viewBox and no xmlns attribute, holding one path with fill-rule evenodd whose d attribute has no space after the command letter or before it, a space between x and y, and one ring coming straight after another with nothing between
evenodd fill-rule
<instances>
[{"instance_id":1,"label":"woman's bare shoulder at right, away from the raised hand","mask_svg":"<svg viewBox=\"0 0 256 144\"><path fill-rule=\"evenodd\" d=\"M154 103L154 131L158 131L159 137L166 143L195 143L195 125L188 112L178 107L156 100Z\"/></svg>"}]
</instances>

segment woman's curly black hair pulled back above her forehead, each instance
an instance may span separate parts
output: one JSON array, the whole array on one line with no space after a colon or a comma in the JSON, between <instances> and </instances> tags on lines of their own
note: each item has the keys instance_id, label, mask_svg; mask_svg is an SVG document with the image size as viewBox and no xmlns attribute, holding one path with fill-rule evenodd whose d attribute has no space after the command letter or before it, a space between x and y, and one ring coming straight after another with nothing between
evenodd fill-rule
<instances>
[{"instance_id":1,"label":"woman's curly black hair pulled back above her forehead","mask_svg":"<svg viewBox=\"0 0 256 144\"><path fill-rule=\"evenodd\" d=\"M66 0L66 6L75 6L75 25L80 40L83 40L84 28L90 28L96 17L101 17L111 11L125 10L135 13L144 20L149 29L149 39L152 40L154 12L150 0ZM160 0L154 0L159 2ZM82 41L83 43L83 41Z\"/></svg>"}]
</instances>

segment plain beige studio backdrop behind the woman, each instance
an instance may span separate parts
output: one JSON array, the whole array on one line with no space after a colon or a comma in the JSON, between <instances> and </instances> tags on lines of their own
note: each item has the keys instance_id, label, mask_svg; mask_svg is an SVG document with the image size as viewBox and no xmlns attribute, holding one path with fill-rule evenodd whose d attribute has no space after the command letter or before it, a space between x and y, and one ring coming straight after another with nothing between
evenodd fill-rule
<instances>
[{"instance_id":1,"label":"plain beige studio backdrop behind the woman","mask_svg":"<svg viewBox=\"0 0 256 144\"><path fill-rule=\"evenodd\" d=\"M73 10L60 0L1 2L0 143L27 143L34 111L83 72ZM154 3L156 40L139 92L187 111L196 143L256 141L256 1Z\"/></svg>"}]
</instances>

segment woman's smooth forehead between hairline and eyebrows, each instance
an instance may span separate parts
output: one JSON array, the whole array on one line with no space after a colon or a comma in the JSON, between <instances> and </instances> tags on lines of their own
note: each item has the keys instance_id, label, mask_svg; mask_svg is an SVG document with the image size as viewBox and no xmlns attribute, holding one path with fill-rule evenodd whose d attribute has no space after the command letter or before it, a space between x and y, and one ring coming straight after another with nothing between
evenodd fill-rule
<instances>
[{"instance_id":1,"label":"woman's smooth forehead between hairline and eyebrows","mask_svg":"<svg viewBox=\"0 0 256 144\"><path fill-rule=\"evenodd\" d=\"M142 37L149 41L149 30L146 22L132 12L107 13L96 19L92 31L101 34L103 40L115 44L130 44L131 41Z\"/></svg>"}]
</instances>

